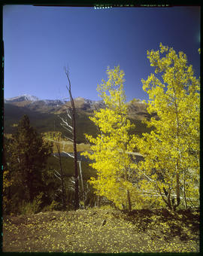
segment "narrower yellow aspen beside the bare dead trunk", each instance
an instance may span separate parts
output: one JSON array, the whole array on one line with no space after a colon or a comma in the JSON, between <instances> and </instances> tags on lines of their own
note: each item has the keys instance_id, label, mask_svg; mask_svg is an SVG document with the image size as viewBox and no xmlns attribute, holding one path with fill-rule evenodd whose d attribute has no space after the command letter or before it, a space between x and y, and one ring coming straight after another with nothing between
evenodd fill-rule
<instances>
[{"instance_id":1,"label":"narrower yellow aspen beside the bare dead trunk","mask_svg":"<svg viewBox=\"0 0 203 256\"><path fill-rule=\"evenodd\" d=\"M93 163L97 178L91 178L90 184L99 196L105 196L118 208L132 210L137 189L132 183L132 160L128 151L135 144L129 136L132 124L127 119L126 95L123 90L124 72L120 66L107 70L108 81L98 85L98 95L102 97L106 108L95 111L90 117L98 128L98 136L86 135L91 152L83 153Z\"/></svg>"}]
</instances>

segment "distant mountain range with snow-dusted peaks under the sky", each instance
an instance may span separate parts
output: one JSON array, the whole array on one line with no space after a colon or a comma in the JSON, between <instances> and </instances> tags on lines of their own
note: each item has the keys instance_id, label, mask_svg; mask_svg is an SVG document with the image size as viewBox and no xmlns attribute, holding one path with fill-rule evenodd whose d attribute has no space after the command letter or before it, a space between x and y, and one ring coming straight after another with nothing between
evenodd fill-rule
<instances>
[{"instance_id":1,"label":"distant mountain range with snow-dusted peaks under the sky","mask_svg":"<svg viewBox=\"0 0 203 256\"><path fill-rule=\"evenodd\" d=\"M92 135L96 133L96 127L89 120L89 116L96 109L105 108L105 102L77 97L74 99L74 105L77 113L77 138L79 138L79 142L85 142L83 133L89 133L89 131ZM150 114L147 113L147 104L141 101L141 99L133 99L127 102L127 105L129 118L135 123L137 133L145 132L147 127L141 123L141 120L150 118ZM41 100L36 96L28 94L5 99L4 132L14 133L15 126L23 117L23 114L28 114L32 126L35 126L38 132L44 133L59 130L64 133L59 117L65 116L67 108L71 108L70 101L59 99Z\"/></svg>"}]
</instances>

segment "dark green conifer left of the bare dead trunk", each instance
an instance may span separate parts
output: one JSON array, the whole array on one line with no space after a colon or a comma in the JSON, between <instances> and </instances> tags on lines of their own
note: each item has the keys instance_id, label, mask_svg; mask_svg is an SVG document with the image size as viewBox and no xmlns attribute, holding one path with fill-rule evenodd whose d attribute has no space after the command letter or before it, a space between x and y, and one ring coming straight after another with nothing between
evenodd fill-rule
<instances>
[{"instance_id":1,"label":"dark green conifer left of the bare dead trunk","mask_svg":"<svg viewBox=\"0 0 203 256\"><path fill-rule=\"evenodd\" d=\"M10 166L14 180L17 187L23 187L23 199L32 202L44 189L43 171L52 145L43 141L41 134L30 125L27 115L20 120L12 139Z\"/></svg>"}]
</instances>

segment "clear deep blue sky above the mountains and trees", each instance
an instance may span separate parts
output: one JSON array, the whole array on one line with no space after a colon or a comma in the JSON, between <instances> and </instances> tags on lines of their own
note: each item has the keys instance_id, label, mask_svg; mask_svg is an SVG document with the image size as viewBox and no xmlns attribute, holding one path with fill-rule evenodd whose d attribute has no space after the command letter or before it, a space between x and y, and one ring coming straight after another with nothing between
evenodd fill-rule
<instances>
[{"instance_id":1,"label":"clear deep blue sky above the mountains and trees","mask_svg":"<svg viewBox=\"0 0 203 256\"><path fill-rule=\"evenodd\" d=\"M147 50L183 51L199 76L200 8L62 8L5 5L5 98L68 96L97 100L108 66L125 72L127 100L147 99L141 79L153 72Z\"/></svg>"}]
</instances>

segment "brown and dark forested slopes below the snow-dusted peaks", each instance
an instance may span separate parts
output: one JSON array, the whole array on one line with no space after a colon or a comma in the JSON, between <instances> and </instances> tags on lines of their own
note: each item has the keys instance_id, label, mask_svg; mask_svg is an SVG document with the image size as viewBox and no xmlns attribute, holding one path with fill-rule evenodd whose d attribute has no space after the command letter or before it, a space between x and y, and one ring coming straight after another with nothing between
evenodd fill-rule
<instances>
[{"instance_id":1,"label":"brown and dark forested slopes below the snow-dusted peaks","mask_svg":"<svg viewBox=\"0 0 203 256\"><path fill-rule=\"evenodd\" d=\"M22 100L22 98L20 98L20 100ZM53 104L54 108L53 105L42 104L41 101L5 101L5 133L11 134L15 132L15 125L23 117L23 114L29 116L30 123L36 130L38 130L38 133L46 133L49 131L60 131L65 133L65 130L60 125L59 117L65 116L65 109L70 108L69 102L64 104L61 103L59 107L56 106L57 102L53 102ZM33 105L35 105L35 108ZM86 109L84 109L83 105L85 105L83 98L82 100L77 100L77 143L86 142L83 135L84 133L91 133L94 136L97 133L94 123L89 120L89 117L92 116L95 108L94 106L91 107L90 105L87 105ZM98 102L97 108L104 108L104 104ZM51 111L51 109L54 109L54 111ZM132 123L135 123L135 129L132 130L132 133L141 135L141 133L150 131L150 129L147 129L146 124L141 122L141 120L150 118L150 114L147 113L146 105L144 103L138 102L136 99L129 102L129 118L132 120Z\"/></svg>"}]
</instances>

